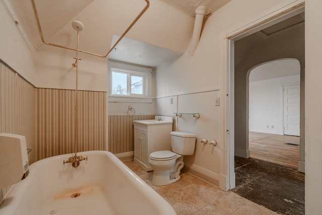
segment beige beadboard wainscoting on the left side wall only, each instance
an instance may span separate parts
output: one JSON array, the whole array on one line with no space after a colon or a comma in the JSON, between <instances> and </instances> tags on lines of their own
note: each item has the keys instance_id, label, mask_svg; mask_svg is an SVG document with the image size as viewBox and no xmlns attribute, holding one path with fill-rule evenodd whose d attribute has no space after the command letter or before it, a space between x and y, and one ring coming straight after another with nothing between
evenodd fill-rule
<instances>
[{"instance_id":1,"label":"beige beadboard wainscoting on the left side wall only","mask_svg":"<svg viewBox=\"0 0 322 215\"><path fill-rule=\"evenodd\" d=\"M26 137L29 164L36 161L35 87L10 66L0 60L0 133L15 133ZM5 177L5 176L0 176ZM0 202L11 186L2 189Z\"/></svg>"}]
</instances>

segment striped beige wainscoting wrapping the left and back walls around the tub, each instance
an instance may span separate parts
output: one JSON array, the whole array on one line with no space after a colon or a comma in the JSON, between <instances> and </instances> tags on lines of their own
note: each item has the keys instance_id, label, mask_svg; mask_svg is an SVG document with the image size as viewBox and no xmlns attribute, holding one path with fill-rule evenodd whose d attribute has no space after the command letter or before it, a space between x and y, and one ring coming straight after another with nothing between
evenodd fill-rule
<instances>
[{"instance_id":1,"label":"striped beige wainscoting wrapping the left and back walls around the tub","mask_svg":"<svg viewBox=\"0 0 322 215\"><path fill-rule=\"evenodd\" d=\"M29 163L74 153L74 91L39 89L0 61L0 133L26 136ZM77 152L106 149L106 93L78 91ZM10 188L3 189L0 200Z\"/></svg>"}]
</instances>

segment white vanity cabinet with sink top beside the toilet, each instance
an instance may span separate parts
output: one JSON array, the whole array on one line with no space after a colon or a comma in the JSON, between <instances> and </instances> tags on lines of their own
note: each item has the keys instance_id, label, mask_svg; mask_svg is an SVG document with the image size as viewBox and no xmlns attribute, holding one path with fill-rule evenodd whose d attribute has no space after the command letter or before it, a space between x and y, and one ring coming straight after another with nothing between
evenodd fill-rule
<instances>
[{"instance_id":1,"label":"white vanity cabinet with sink top beside the toilet","mask_svg":"<svg viewBox=\"0 0 322 215\"><path fill-rule=\"evenodd\" d=\"M145 171L153 170L149 165L152 152L171 151L173 118L169 121L134 120L134 162Z\"/></svg>"}]
</instances>

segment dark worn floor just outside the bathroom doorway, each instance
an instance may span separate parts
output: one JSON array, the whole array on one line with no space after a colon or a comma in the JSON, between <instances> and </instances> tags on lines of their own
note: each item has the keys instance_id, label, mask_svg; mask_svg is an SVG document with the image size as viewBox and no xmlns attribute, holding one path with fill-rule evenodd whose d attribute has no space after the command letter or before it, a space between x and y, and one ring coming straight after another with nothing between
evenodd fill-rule
<instances>
[{"instance_id":1,"label":"dark worn floor just outside the bathroom doorway","mask_svg":"<svg viewBox=\"0 0 322 215\"><path fill-rule=\"evenodd\" d=\"M236 194L278 214L305 214L305 175L297 169L235 156L235 175Z\"/></svg>"}]
</instances>

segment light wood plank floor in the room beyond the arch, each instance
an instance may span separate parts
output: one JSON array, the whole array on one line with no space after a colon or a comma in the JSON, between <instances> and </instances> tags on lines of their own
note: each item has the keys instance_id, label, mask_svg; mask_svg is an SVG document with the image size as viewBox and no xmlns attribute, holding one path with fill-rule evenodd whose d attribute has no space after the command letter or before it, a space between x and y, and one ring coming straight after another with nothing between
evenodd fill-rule
<instances>
[{"instance_id":1,"label":"light wood plank floor in the room beyond the arch","mask_svg":"<svg viewBox=\"0 0 322 215\"><path fill-rule=\"evenodd\" d=\"M299 141L299 136L250 132L251 158L297 169Z\"/></svg>"}]
</instances>

